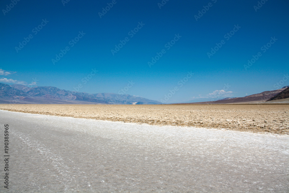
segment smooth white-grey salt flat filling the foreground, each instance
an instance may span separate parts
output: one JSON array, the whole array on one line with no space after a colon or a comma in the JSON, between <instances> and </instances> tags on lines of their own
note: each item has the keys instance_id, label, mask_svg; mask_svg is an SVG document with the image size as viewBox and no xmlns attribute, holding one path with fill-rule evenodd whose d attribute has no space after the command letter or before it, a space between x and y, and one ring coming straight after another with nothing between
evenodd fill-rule
<instances>
[{"instance_id":1,"label":"smooth white-grey salt flat filling the foreground","mask_svg":"<svg viewBox=\"0 0 289 193\"><path fill-rule=\"evenodd\" d=\"M0 117L12 150L7 192L289 192L286 135Z\"/></svg>"}]
</instances>

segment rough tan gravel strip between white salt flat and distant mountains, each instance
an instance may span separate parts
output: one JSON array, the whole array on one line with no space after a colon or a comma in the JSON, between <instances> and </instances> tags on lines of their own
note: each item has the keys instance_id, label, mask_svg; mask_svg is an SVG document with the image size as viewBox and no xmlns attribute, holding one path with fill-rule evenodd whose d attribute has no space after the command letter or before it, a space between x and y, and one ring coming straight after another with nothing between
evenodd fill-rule
<instances>
[{"instance_id":1,"label":"rough tan gravel strip between white salt flat and distant mountains","mask_svg":"<svg viewBox=\"0 0 289 193\"><path fill-rule=\"evenodd\" d=\"M0 104L23 113L289 135L289 104Z\"/></svg>"}]
</instances>

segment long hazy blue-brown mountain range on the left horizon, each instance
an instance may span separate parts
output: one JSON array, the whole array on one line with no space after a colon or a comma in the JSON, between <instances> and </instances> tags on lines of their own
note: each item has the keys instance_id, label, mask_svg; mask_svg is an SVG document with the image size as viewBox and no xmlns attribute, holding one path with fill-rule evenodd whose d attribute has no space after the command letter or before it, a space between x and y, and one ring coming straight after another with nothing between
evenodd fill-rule
<instances>
[{"instance_id":1,"label":"long hazy blue-brown mountain range on the left horizon","mask_svg":"<svg viewBox=\"0 0 289 193\"><path fill-rule=\"evenodd\" d=\"M56 87L27 87L0 83L1 104L162 104L132 95L81 93Z\"/></svg>"}]
</instances>

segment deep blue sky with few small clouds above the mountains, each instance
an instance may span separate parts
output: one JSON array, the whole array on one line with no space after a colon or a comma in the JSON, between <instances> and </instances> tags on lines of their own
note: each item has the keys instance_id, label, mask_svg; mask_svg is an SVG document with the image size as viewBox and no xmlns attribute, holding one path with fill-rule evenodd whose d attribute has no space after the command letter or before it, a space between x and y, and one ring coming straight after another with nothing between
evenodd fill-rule
<instances>
[{"instance_id":1,"label":"deep blue sky with few small clouds above the mountains","mask_svg":"<svg viewBox=\"0 0 289 193\"><path fill-rule=\"evenodd\" d=\"M259 2L3 0L0 82L119 93L130 81L125 94L166 103L275 90L289 85L289 1Z\"/></svg>"}]
</instances>

